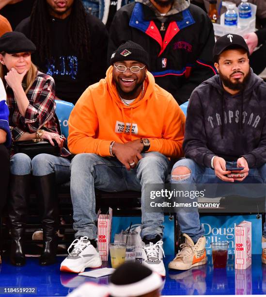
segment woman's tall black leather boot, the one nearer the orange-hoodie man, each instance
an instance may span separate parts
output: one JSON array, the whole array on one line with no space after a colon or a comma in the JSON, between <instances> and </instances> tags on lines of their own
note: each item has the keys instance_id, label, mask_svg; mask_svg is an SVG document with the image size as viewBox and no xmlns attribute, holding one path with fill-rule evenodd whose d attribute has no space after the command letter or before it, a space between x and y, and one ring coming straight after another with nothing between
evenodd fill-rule
<instances>
[{"instance_id":1,"label":"woman's tall black leather boot, the one nearer the orange-hoodie man","mask_svg":"<svg viewBox=\"0 0 266 297\"><path fill-rule=\"evenodd\" d=\"M54 173L34 178L42 216L44 240L39 264L45 266L56 262L59 220L57 186Z\"/></svg>"}]
</instances>

